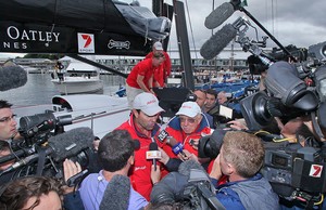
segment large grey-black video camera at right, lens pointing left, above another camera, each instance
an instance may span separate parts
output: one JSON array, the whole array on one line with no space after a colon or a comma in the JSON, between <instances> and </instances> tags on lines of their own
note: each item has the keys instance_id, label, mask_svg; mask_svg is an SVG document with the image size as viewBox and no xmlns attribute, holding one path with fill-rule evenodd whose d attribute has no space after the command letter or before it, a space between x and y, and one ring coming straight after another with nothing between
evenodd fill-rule
<instances>
[{"instance_id":1,"label":"large grey-black video camera at right, lens pointing left, above another camera","mask_svg":"<svg viewBox=\"0 0 326 210\"><path fill-rule=\"evenodd\" d=\"M313 114L318 119L314 127L326 129L323 117L326 114L326 64L314 58L294 64L284 61L273 63L266 62L264 53L256 56L268 66L266 90L240 101L248 128L260 130L268 126L274 117L293 118Z\"/></svg>"}]
</instances>

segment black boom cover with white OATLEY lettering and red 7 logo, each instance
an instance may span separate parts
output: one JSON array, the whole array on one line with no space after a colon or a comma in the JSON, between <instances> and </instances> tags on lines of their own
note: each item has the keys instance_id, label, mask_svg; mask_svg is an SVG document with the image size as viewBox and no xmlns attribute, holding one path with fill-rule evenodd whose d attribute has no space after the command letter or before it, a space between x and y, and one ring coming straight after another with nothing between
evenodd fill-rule
<instances>
[{"instance_id":1,"label":"black boom cover with white OATLEY lettering and red 7 logo","mask_svg":"<svg viewBox=\"0 0 326 210\"><path fill-rule=\"evenodd\" d=\"M0 52L145 56L150 45L140 36L0 22Z\"/></svg>"}]
</instances>

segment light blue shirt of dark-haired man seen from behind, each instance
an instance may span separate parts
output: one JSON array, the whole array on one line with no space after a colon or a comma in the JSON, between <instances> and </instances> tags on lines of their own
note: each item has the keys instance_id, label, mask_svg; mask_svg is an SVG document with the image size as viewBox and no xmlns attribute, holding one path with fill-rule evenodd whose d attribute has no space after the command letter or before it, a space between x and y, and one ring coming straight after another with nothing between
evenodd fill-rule
<instances>
[{"instance_id":1,"label":"light blue shirt of dark-haired man seen from behind","mask_svg":"<svg viewBox=\"0 0 326 210\"><path fill-rule=\"evenodd\" d=\"M84 179L79 193L85 210L99 210L108 184L102 171L91 173ZM128 210L140 209L147 205L148 201L130 186Z\"/></svg>"}]
</instances>

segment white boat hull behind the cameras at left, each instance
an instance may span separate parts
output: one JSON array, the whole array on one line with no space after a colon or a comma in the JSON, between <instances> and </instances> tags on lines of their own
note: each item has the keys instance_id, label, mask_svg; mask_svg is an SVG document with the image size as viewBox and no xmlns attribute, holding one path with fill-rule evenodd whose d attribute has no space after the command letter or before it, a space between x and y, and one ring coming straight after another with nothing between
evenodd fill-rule
<instances>
[{"instance_id":1,"label":"white boat hull behind the cameras at left","mask_svg":"<svg viewBox=\"0 0 326 210\"><path fill-rule=\"evenodd\" d=\"M13 107L18 118L53 111L59 118L71 116L72 123L64 126L64 131L88 127L93 134L103 137L106 133L125 122L130 115L126 97L101 94L55 95L52 104Z\"/></svg>"}]
</instances>

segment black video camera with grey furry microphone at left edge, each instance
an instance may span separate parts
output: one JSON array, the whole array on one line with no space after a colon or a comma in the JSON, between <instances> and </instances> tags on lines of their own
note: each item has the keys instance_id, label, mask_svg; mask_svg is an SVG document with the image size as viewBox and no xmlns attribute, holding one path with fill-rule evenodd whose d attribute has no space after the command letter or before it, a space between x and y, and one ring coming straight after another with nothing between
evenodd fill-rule
<instances>
[{"instance_id":1,"label":"black video camera with grey furry microphone at left edge","mask_svg":"<svg viewBox=\"0 0 326 210\"><path fill-rule=\"evenodd\" d=\"M0 157L0 163L14 160L0 171L1 182L26 175L63 178L62 163L66 158L78 162L83 170L93 170L96 166L89 165L95 158L92 130L76 128L63 132L63 126L71 123L71 115L55 117L45 113L22 117L18 131L23 139L11 141L12 153Z\"/></svg>"}]
</instances>

